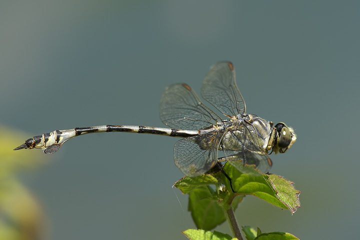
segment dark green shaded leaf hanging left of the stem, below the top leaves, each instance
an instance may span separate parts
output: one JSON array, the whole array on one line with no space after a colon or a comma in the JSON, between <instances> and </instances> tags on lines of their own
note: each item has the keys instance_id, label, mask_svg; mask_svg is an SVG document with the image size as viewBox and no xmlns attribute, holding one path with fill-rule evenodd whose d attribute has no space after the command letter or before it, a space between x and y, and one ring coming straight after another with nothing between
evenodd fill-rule
<instances>
[{"instance_id":1,"label":"dark green shaded leaf hanging left of the stem, below the top leaves","mask_svg":"<svg viewBox=\"0 0 360 240\"><path fill-rule=\"evenodd\" d=\"M189 193L188 210L197 228L210 230L226 220L222 207L217 203L209 186L200 186Z\"/></svg>"}]
</instances>

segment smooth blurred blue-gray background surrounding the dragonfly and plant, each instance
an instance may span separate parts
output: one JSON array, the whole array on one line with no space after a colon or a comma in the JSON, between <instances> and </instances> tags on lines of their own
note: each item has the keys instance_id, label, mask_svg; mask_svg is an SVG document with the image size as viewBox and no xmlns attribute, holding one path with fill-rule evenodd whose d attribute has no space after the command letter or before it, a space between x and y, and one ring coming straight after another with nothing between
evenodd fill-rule
<instances>
[{"instance_id":1,"label":"smooth blurred blue-gray background surrounding the dragonfly and plant","mask_svg":"<svg viewBox=\"0 0 360 240\"><path fill-rule=\"evenodd\" d=\"M236 210L239 224L354 239L359 22L355 0L2 0L0 123L28 137L100 124L164 126L164 87L186 82L199 93L209 66L230 60L247 112L298 135L272 156L271 171L295 182L301 207L291 215L248 196ZM90 134L46 155L23 181L44 209L48 238L185 239L180 231L195 226L186 196L171 188L182 177L176 140ZM230 233L227 223L216 230Z\"/></svg>"}]
</instances>

